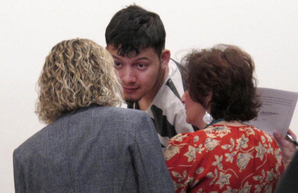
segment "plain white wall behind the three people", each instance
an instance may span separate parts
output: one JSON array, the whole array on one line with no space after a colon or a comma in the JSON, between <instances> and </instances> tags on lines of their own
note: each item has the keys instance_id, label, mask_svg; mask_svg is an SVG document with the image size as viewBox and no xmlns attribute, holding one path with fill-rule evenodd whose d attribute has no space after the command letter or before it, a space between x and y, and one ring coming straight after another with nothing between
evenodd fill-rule
<instances>
[{"instance_id":1,"label":"plain white wall behind the three people","mask_svg":"<svg viewBox=\"0 0 298 193\"><path fill-rule=\"evenodd\" d=\"M50 49L71 38L105 46L108 22L133 1L0 2L0 192L13 192L12 152L44 127L34 114L35 84ZM235 44L251 54L260 87L298 92L298 2L160 1L136 4L158 13L166 48L180 60L186 49ZM297 109L297 108L296 108ZM298 133L298 112L291 126Z\"/></svg>"}]
</instances>

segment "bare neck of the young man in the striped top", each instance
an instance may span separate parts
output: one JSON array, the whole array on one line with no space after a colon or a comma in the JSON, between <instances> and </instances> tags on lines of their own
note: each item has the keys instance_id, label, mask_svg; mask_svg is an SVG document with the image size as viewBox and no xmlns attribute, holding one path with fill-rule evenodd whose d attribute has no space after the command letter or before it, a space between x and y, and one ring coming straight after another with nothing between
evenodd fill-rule
<instances>
[{"instance_id":1,"label":"bare neck of the young man in the striped top","mask_svg":"<svg viewBox=\"0 0 298 193\"><path fill-rule=\"evenodd\" d=\"M161 88L161 86L163 85L165 79L167 78L168 72L169 72L169 70L168 70L168 66L167 66L166 69L164 70L163 75L160 77L160 79L157 82L158 86L152 92L150 92L147 95L143 96L140 99L140 101L138 101L138 106L139 106L140 110L145 111L149 108L149 106L151 105L151 103L154 100L155 96L157 95L159 89Z\"/></svg>"}]
</instances>

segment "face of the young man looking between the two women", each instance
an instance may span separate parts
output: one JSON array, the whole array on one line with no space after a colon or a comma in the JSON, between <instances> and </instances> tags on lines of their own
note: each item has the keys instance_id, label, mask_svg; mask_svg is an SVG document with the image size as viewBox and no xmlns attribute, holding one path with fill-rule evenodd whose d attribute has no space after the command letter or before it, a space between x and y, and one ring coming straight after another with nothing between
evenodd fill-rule
<instances>
[{"instance_id":1,"label":"face of the young man looking between the two women","mask_svg":"<svg viewBox=\"0 0 298 193\"><path fill-rule=\"evenodd\" d=\"M106 49L113 56L114 67L122 82L125 101L136 102L144 96L157 92L166 65L159 59L154 49L140 50L140 53L133 57L119 56L112 45L108 45Z\"/></svg>"}]
</instances>

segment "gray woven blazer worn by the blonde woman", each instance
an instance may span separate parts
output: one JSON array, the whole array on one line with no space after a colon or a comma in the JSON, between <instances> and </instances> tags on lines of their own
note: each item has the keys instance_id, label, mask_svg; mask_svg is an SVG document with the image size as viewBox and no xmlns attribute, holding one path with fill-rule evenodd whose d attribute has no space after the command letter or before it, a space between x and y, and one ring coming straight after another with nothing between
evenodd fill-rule
<instances>
[{"instance_id":1,"label":"gray woven blazer worn by the blonde woman","mask_svg":"<svg viewBox=\"0 0 298 193\"><path fill-rule=\"evenodd\" d=\"M13 153L16 192L174 192L154 124L93 105L44 127Z\"/></svg>"}]
</instances>

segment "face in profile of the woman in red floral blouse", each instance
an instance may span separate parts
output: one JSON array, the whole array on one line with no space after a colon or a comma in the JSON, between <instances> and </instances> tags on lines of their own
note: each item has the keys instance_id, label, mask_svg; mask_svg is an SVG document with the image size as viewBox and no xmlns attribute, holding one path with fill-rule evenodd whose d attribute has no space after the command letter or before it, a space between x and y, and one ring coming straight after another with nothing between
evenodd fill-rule
<instances>
[{"instance_id":1,"label":"face in profile of the woman in red floral blouse","mask_svg":"<svg viewBox=\"0 0 298 193\"><path fill-rule=\"evenodd\" d=\"M181 97L181 102L185 105L186 122L195 125L199 129L204 129L207 124L203 122L203 116L207 109L200 103L193 101L188 90Z\"/></svg>"}]
</instances>

